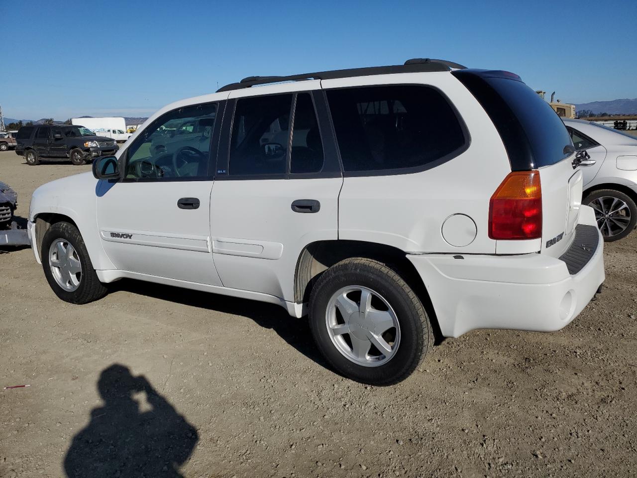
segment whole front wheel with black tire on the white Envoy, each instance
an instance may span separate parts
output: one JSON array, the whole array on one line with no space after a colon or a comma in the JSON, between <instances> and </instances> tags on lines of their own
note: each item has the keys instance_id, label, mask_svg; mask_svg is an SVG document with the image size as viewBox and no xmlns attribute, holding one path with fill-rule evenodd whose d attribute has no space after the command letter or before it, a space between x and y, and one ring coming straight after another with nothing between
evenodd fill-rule
<instances>
[{"instance_id":1,"label":"whole front wheel with black tire on the white Envoy","mask_svg":"<svg viewBox=\"0 0 637 478\"><path fill-rule=\"evenodd\" d=\"M55 262L51 257L52 246L57 251L54 259L59 261L65 256L65 254L61 254L61 250L57 249L58 243L62 243L62 250L67 253L66 256L70 252L69 246L72 248L73 253L70 254L69 264L72 261L73 264L79 263L80 265L81 272L79 272L79 276L74 275L76 284L70 281L66 282L64 273L60 272L61 267L55 267L54 265ZM89 253L84 245L82 235L73 224L56 222L51 226L43 238L41 254L42 268L47 277L48 285L51 286L55 295L62 300L73 304L85 304L106 295L107 289L97 279L97 274L90 262ZM61 285L64 282L66 282L68 287Z\"/></svg>"}]
</instances>

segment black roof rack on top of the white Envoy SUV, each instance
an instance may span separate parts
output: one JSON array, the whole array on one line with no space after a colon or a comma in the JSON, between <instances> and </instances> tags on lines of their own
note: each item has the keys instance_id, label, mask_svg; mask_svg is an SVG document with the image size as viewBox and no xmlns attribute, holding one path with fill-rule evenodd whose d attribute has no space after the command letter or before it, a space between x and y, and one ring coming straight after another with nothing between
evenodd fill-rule
<instances>
[{"instance_id":1,"label":"black roof rack on top of the white Envoy SUV","mask_svg":"<svg viewBox=\"0 0 637 478\"><path fill-rule=\"evenodd\" d=\"M369 68L333 69L316 73L303 73L289 76L248 76L238 83L230 83L217 90L231 91L250 88L268 83L297 82L302 80L333 80L334 78L351 78L352 76L389 75L390 73L423 73L426 71L449 71L450 69L465 69L466 66L446 60L429 58L413 58L403 65L372 66Z\"/></svg>"}]
</instances>

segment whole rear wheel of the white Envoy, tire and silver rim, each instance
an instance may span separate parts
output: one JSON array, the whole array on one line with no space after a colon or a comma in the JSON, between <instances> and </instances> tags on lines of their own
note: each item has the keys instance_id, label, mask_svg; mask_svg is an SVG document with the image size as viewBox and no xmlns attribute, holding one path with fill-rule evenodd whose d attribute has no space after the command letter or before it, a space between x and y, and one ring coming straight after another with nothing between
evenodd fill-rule
<instances>
[{"instance_id":1,"label":"whole rear wheel of the white Envoy, tire and silver rim","mask_svg":"<svg viewBox=\"0 0 637 478\"><path fill-rule=\"evenodd\" d=\"M364 314L359 312L363 294L371 294L371 307L365 308L369 312ZM345 307L335 307L343 296ZM339 299L335 301L335 297ZM351 315L345 319L341 310L347 314L350 307ZM390 319L397 326L383 331ZM371 385L406 379L434 342L429 317L411 287L387 265L361 257L334 264L318 279L310 295L310 329L318 349L334 369ZM384 342L378 342L379 333ZM364 337L369 344L373 340L383 344L388 352L381 352L380 346L365 345ZM354 341L359 344L358 352Z\"/></svg>"}]
</instances>

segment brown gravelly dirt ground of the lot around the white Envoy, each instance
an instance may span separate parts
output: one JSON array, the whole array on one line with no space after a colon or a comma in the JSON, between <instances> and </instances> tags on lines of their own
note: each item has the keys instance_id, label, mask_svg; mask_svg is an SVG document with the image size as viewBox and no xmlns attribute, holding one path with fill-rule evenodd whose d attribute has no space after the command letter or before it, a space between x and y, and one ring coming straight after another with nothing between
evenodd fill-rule
<instances>
[{"instance_id":1,"label":"brown gravelly dirt ground of the lot around the white Envoy","mask_svg":"<svg viewBox=\"0 0 637 478\"><path fill-rule=\"evenodd\" d=\"M36 187L89 170L0 153L22 217ZM605 261L564 330L467 333L369 387L275 305L132 281L70 305L11 250L0 386L30 387L0 392L0 477L636 476L637 233Z\"/></svg>"}]
</instances>

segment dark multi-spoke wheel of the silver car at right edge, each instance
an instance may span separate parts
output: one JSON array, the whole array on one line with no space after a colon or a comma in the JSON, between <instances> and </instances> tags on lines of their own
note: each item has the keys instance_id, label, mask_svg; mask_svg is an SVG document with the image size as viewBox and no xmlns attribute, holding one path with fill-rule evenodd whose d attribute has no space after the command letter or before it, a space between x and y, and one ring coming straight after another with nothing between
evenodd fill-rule
<instances>
[{"instance_id":1,"label":"dark multi-spoke wheel of the silver car at right edge","mask_svg":"<svg viewBox=\"0 0 637 478\"><path fill-rule=\"evenodd\" d=\"M591 192L582 202L595 210L605 242L623 239L635 228L637 205L625 192L599 189Z\"/></svg>"}]
</instances>

